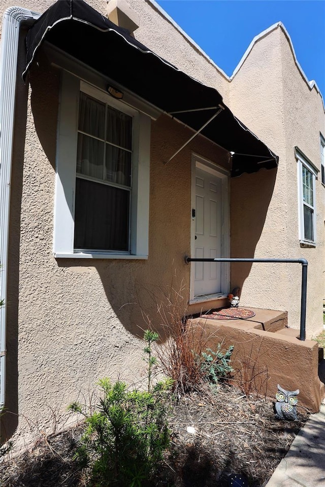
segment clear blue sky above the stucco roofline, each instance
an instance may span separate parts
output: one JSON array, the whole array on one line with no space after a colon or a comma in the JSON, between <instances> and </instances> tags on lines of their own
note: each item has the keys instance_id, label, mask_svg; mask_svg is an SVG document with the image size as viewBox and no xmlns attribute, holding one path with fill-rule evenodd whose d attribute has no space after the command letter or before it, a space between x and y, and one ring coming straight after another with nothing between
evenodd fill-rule
<instances>
[{"instance_id":1,"label":"clear blue sky above the stucco roofline","mask_svg":"<svg viewBox=\"0 0 325 487\"><path fill-rule=\"evenodd\" d=\"M231 75L252 39L281 21L308 80L325 97L325 0L156 0Z\"/></svg>"}]
</instances>

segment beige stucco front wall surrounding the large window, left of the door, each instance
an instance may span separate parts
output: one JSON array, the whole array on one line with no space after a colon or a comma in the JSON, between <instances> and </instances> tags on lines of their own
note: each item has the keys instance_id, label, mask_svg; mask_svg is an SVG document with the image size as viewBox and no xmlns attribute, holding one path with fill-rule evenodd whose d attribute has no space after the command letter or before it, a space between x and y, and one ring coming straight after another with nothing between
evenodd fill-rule
<instances>
[{"instance_id":1,"label":"beige stucco front wall surrounding the large window, left of the door","mask_svg":"<svg viewBox=\"0 0 325 487\"><path fill-rule=\"evenodd\" d=\"M21 49L20 71L23 60ZM189 266L183 258L190 253L192 151L221 166L229 161L200 137L164 165L192 132L160 117L151 127L149 259L55 260L60 72L46 56L40 54L39 61L31 69L29 87L18 75L15 117L7 299L10 412L2 432L14 434L17 446L30 438L30 430L51 429L51 410L65 416L69 402L82 396L87 400L98 378L143 380L139 336L148 324L142 312L164 335L156 303L173 286L182 288L186 307Z\"/></svg>"}]
</instances>

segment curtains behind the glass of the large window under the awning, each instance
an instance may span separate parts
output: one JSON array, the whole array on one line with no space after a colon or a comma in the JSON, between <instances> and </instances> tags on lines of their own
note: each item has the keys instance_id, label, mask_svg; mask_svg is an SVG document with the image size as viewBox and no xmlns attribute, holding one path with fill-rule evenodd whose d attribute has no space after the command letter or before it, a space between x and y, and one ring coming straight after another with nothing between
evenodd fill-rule
<instances>
[{"instance_id":1,"label":"curtains behind the glass of the large window under the awning","mask_svg":"<svg viewBox=\"0 0 325 487\"><path fill-rule=\"evenodd\" d=\"M127 251L129 189L78 173L131 188L132 117L80 93L78 129L74 247Z\"/></svg>"}]
</instances>

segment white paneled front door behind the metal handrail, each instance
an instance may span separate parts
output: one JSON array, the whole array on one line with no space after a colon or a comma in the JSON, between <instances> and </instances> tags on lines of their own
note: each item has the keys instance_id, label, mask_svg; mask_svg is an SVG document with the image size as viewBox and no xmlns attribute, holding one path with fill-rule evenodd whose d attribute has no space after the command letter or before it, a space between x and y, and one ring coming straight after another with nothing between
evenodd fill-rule
<instances>
[{"instance_id":1,"label":"white paneled front door behind the metal handrail","mask_svg":"<svg viewBox=\"0 0 325 487\"><path fill-rule=\"evenodd\" d=\"M196 168L197 258L221 257L221 179ZM194 263L194 296L221 292L221 266L214 262Z\"/></svg>"}]
</instances>

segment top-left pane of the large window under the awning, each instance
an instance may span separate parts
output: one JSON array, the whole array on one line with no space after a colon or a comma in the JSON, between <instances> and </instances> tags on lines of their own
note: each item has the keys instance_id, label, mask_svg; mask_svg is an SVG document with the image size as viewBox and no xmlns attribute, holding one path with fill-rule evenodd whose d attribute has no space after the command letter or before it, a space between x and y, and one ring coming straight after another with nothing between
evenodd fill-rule
<instances>
[{"instance_id":1,"label":"top-left pane of the large window under the awning","mask_svg":"<svg viewBox=\"0 0 325 487\"><path fill-rule=\"evenodd\" d=\"M104 139L105 105L80 92L79 130Z\"/></svg>"}]
</instances>

